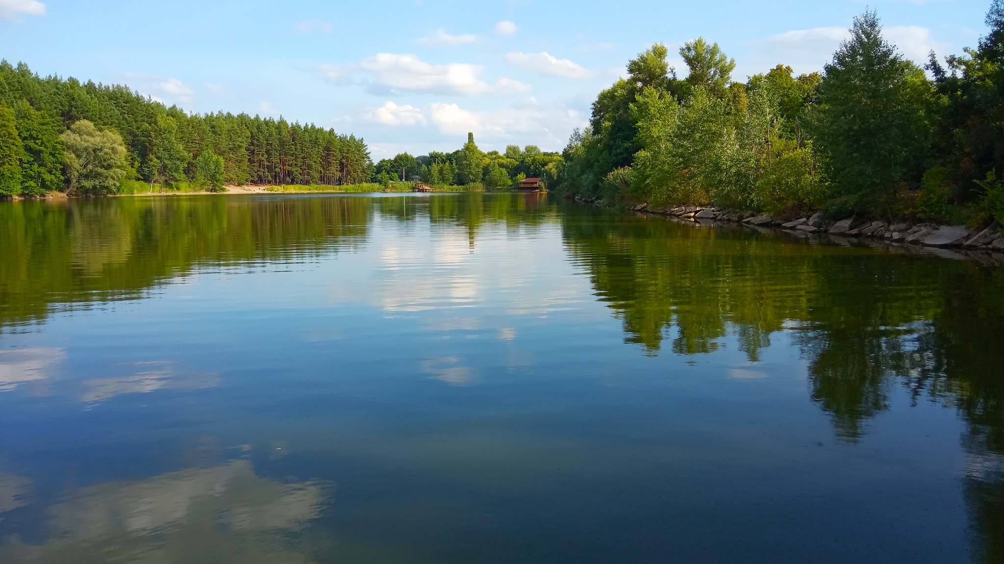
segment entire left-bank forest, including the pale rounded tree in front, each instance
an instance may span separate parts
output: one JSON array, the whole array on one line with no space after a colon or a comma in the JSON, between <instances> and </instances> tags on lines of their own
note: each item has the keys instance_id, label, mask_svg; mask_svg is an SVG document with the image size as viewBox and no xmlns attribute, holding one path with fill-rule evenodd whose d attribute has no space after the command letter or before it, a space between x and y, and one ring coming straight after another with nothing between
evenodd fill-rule
<instances>
[{"instance_id":1,"label":"entire left-bank forest, including the pale rounded tree in front","mask_svg":"<svg viewBox=\"0 0 1004 564\"><path fill-rule=\"evenodd\" d=\"M353 135L245 113L189 114L122 85L40 77L0 61L0 196L172 186L355 184L372 163Z\"/></svg>"}]
</instances>

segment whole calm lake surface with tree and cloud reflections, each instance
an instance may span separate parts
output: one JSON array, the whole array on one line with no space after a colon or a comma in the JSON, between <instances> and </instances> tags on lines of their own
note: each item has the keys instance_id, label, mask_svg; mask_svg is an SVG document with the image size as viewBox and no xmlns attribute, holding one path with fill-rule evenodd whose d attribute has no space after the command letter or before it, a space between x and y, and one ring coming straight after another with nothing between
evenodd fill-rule
<instances>
[{"instance_id":1,"label":"whole calm lake surface with tree and cloud reflections","mask_svg":"<svg viewBox=\"0 0 1004 564\"><path fill-rule=\"evenodd\" d=\"M539 195L0 203L0 561L1004 561L1004 272Z\"/></svg>"}]
</instances>

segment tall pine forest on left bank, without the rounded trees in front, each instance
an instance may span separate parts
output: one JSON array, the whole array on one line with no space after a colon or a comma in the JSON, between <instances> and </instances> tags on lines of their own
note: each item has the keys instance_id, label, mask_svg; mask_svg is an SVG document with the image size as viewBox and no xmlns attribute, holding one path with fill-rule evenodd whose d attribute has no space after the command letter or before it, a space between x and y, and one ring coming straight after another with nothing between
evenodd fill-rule
<instances>
[{"instance_id":1,"label":"tall pine forest on left bank, without the rounded trees in front","mask_svg":"<svg viewBox=\"0 0 1004 564\"><path fill-rule=\"evenodd\" d=\"M60 133L79 120L117 131L151 186L195 175L206 151L224 160L224 182L353 184L367 181L372 163L362 139L313 124L231 113L188 114L126 86L41 78L24 64L0 61L0 101L14 109L26 158L22 193L66 188Z\"/></svg>"}]
</instances>

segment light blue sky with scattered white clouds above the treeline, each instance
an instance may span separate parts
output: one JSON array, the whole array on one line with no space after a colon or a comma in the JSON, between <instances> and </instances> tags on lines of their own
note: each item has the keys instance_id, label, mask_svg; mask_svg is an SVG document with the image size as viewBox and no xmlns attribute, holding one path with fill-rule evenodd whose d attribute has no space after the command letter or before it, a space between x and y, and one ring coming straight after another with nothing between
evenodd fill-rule
<instances>
[{"instance_id":1,"label":"light blue sky with scattered white clouds above the treeline","mask_svg":"<svg viewBox=\"0 0 1004 564\"><path fill-rule=\"evenodd\" d=\"M600 2L0 0L0 57L41 74L121 82L190 111L313 121L374 159L559 151L628 59L704 36L734 78L783 62L818 70L870 6L915 60L974 46L989 0ZM923 61L921 61L923 62Z\"/></svg>"}]
</instances>

